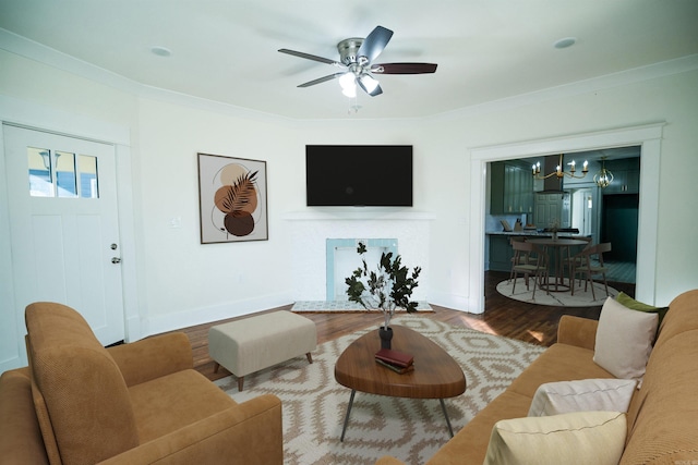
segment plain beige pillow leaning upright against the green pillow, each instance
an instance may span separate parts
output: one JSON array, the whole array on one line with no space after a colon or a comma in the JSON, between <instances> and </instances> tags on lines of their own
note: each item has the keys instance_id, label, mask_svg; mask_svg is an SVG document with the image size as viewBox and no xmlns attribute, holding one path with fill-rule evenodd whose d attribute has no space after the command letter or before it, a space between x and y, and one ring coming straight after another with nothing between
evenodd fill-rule
<instances>
[{"instance_id":1,"label":"plain beige pillow leaning upright against the green pillow","mask_svg":"<svg viewBox=\"0 0 698 465\"><path fill-rule=\"evenodd\" d=\"M631 310L606 298L599 317L593 360L616 378L641 381L658 321L657 314Z\"/></svg>"}]
</instances>

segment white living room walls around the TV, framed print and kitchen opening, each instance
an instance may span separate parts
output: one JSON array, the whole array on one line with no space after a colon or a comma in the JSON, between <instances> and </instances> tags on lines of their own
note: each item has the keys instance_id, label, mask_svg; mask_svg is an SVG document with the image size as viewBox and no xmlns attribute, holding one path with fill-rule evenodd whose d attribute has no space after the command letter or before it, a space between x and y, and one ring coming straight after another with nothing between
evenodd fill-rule
<instances>
[{"instance_id":1,"label":"white living room walls around the TV, framed print and kitchen opening","mask_svg":"<svg viewBox=\"0 0 698 465\"><path fill-rule=\"evenodd\" d=\"M655 303L665 305L679 292L698 286L698 242L694 240L698 218L691 208L698 198L696 71L510 109L483 107L424 120L289 121L137 97L3 51L0 69L4 97L129 130L132 178L120 182L132 182L129 188L133 188L132 205L125 208L135 223L134 291L141 335L297 298L293 244L284 216L306 210L305 144L414 146L414 210L432 218L429 285L422 291L434 304L468 310L472 148L665 121L657 173ZM43 121L39 114L22 119L27 124ZM75 127L76 135L84 131L82 126ZM268 241L200 244L198 151L266 160ZM182 219L181 229L169 228L176 217ZM0 247L7 254L4 238ZM1 268L0 278L11 279L8 270L7 265ZM5 296L0 299L4 323L12 309Z\"/></svg>"}]
</instances>

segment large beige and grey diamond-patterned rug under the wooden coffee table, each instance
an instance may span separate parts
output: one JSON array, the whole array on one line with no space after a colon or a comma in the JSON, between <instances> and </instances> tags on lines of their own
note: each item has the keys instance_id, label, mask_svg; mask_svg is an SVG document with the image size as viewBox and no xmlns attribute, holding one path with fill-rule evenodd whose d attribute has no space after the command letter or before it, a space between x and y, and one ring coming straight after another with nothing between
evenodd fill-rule
<instances>
[{"instance_id":1,"label":"large beige and grey diamond-patterned rug under the wooden coffee table","mask_svg":"<svg viewBox=\"0 0 698 465\"><path fill-rule=\"evenodd\" d=\"M419 315L396 316L393 323L430 338L462 367L465 394L445 400L456 433L544 350ZM373 464L386 454L423 464L450 438L437 400L357 392L345 441L339 441L351 390L335 381L335 363L352 341L373 329L318 345L312 365L302 356L249 375L243 392L238 392L234 377L216 383L237 402L264 393L281 399L287 465ZM414 359L419 363L419 354Z\"/></svg>"}]
</instances>

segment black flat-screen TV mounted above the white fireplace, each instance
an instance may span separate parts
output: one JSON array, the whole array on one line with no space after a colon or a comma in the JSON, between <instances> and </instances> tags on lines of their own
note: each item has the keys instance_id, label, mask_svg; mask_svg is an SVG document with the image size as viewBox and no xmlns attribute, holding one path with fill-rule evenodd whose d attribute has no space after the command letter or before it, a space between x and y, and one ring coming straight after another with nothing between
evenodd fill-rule
<instances>
[{"instance_id":1,"label":"black flat-screen TV mounted above the white fireplace","mask_svg":"<svg viewBox=\"0 0 698 465\"><path fill-rule=\"evenodd\" d=\"M306 145L309 207L411 207L411 145Z\"/></svg>"}]
</instances>

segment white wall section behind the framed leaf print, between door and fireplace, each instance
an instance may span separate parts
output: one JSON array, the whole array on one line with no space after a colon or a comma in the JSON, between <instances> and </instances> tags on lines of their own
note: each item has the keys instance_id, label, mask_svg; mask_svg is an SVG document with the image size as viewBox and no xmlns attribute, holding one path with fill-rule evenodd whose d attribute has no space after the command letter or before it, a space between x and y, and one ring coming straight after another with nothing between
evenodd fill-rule
<instances>
[{"instance_id":1,"label":"white wall section behind the framed leaf print, between door and fireplace","mask_svg":"<svg viewBox=\"0 0 698 465\"><path fill-rule=\"evenodd\" d=\"M172 328L172 315L201 322L290 303L280 216L299 180L287 174L297 158L289 130L147 99L139 102L139 121L141 303L148 332ZM268 241L200 243L197 152L266 161ZM170 228L172 218L181 218L180 229Z\"/></svg>"}]
</instances>

